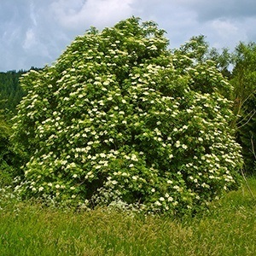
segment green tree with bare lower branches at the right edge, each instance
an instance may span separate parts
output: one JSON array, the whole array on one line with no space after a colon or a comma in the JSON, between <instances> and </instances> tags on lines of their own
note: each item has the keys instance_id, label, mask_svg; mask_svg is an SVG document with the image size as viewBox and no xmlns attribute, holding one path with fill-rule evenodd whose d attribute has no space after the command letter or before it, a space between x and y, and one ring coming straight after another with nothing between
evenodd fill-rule
<instances>
[{"instance_id":1,"label":"green tree with bare lower branches at the right edge","mask_svg":"<svg viewBox=\"0 0 256 256\"><path fill-rule=\"evenodd\" d=\"M247 173L255 173L256 147L256 44L240 43L234 53L234 86L238 139L242 145Z\"/></svg>"}]
</instances>

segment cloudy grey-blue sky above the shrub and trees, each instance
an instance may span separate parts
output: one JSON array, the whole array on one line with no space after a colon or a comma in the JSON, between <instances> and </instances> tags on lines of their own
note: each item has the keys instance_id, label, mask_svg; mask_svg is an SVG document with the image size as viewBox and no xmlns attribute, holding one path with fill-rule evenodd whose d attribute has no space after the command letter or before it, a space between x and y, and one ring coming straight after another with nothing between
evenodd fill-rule
<instances>
[{"instance_id":1,"label":"cloudy grey-blue sky above the shrub and trees","mask_svg":"<svg viewBox=\"0 0 256 256\"><path fill-rule=\"evenodd\" d=\"M132 15L154 20L171 49L198 35L231 51L256 42L255 0L0 0L0 72L51 65L90 26Z\"/></svg>"}]
</instances>

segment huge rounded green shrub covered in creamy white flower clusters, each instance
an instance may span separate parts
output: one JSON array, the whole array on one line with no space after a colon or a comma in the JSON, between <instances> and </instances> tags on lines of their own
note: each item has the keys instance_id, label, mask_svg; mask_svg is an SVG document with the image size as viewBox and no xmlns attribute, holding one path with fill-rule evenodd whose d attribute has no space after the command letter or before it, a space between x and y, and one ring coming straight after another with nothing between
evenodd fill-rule
<instances>
[{"instance_id":1,"label":"huge rounded green shrub covered in creamy white flower clusters","mask_svg":"<svg viewBox=\"0 0 256 256\"><path fill-rule=\"evenodd\" d=\"M230 84L212 61L167 46L133 17L91 28L23 76L14 137L31 157L20 195L174 213L237 186Z\"/></svg>"}]
</instances>

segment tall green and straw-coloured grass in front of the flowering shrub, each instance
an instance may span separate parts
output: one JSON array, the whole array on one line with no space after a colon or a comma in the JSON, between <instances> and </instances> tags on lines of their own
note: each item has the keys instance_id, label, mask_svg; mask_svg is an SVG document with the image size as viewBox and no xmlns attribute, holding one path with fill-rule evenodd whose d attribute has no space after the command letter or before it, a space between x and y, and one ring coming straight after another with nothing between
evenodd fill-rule
<instances>
[{"instance_id":1,"label":"tall green and straw-coloured grass in front of the flowering shrub","mask_svg":"<svg viewBox=\"0 0 256 256\"><path fill-rule=\"evenodd\" d=\"M248 183L256 195L256 178ZM194 218L65 212L0 201L0 255L256 255L256 201L247 186Z\"/></svg>"}]
</instances>

